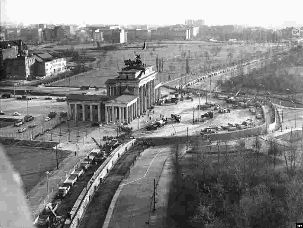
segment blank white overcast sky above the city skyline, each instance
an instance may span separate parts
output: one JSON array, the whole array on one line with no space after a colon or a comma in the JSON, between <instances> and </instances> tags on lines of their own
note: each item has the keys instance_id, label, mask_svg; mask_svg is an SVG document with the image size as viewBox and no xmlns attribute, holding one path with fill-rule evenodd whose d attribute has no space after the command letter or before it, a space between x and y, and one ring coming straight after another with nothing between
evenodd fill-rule
<instances>
[{"instance_id":1,"label":"blank white overcast sky above the city skyline","mask_svg":"<svg viewBox=\"0 0 303 228\"><path fill-rule=\"evenodd\" d=\"M204 19L206 25L285 27L301 25L303 1L71 1L0 0L1 20L36 23L180 24ZM293 3L291 3L293 2Z\"/></svg>"}]
</instances>

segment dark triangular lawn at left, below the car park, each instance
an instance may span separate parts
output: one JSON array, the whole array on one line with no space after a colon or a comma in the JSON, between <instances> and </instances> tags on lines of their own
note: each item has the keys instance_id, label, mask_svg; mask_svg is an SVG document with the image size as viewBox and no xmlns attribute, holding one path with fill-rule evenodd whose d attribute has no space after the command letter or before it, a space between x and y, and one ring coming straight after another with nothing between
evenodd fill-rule
<instances>
[{"instance_id":1,"label":"dark triangular lawn at left, below the car park","mask_svg":"<svg viewBox=\"0 0 303 228\"><path fill-rule=\"evenodd\" d=\"M20 173L23 188L28 193L46 174L57 168L56 151L54 149L42 150L35 147L20 147L4 145L5 152L12 161L15 169ZM57 150L58 163L68 156L68 151Z\"/></svg>"}]
</instances>

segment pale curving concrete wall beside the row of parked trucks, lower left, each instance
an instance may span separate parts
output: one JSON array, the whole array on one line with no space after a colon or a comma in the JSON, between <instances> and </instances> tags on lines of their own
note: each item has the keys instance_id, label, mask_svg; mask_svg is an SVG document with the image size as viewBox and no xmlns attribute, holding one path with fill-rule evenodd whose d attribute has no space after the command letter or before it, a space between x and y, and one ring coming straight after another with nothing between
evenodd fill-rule
<instances>
[{"instance_id":1,"label":"pale curving concrete wall beside the row of parked trucks, lower left","mask_svg":"<svg viewBox=\"0 0 303 228\"><path fill-rule=\"evenodd\" d=\"M72 221L66 220L64 227L75 228L78 226L78 223L81 222L82 216L85 213L85 209L92 200L93 194L97 190L98 186L104 178L107 176L109 171L118 161L119 157L126 151L126 147L129 150L134 144L136 139L129 141L128 143L120 145L118 148L112 151L110 156L103 162L103 164L98 168L95 174L92 176L91 180L88 182L85 189L78 197L72 211Z\"/></svg>"}]
</instances>

